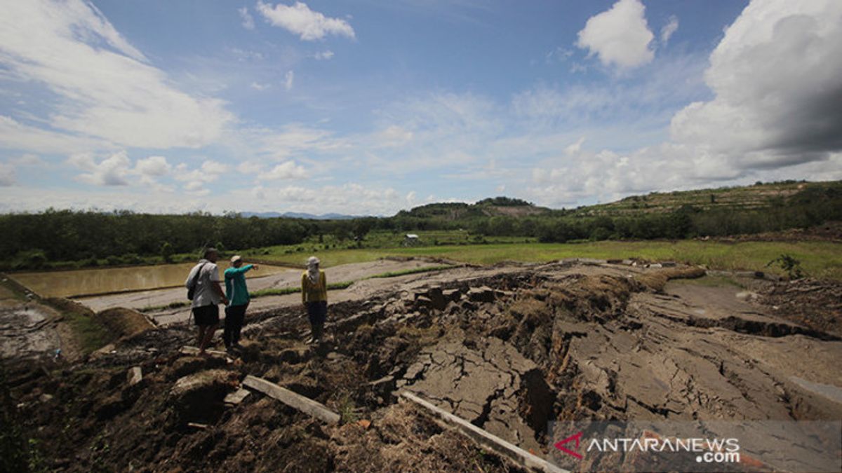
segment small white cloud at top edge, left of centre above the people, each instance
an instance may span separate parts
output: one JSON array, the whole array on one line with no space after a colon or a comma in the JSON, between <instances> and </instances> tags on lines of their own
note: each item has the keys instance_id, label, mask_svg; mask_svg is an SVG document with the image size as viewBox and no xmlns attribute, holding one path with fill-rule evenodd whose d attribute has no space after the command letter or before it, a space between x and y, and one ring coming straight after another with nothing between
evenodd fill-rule
<instances>
[{"instance_id":1,"label":"small white cloud at top edge, left of centre above the people","mask_svg":"<svg viewBox=\"0 0 842 473\"><path fill-rule=\"evenodd\" d=\"M314 12L306 3L296 2L292 6L278 3L272 7L269 3L258 0L257 11L273 26L299 35L301 40L322 40L327 35L354 38L354 29L347 21L328 18L322 13Z\"/></svg>"}]
</instances>

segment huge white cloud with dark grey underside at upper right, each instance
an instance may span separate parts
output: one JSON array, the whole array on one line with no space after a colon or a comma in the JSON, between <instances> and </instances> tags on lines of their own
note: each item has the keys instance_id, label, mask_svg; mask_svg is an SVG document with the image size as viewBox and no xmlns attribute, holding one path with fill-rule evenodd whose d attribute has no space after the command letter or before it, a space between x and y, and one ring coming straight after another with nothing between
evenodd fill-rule
<instances>
[{"instance_id":1,"label":"huge white cloud with dark grey underside at upper right","mask_svg":"<svg viewBox=\"0 0 842 473\"><path fill-rule=\"evenodd\" d=\"M738 169L825 159L842 149L842 3L754 1L711 54L715 93L675 114L673 141Z\"/></svg>"}]
</instances>

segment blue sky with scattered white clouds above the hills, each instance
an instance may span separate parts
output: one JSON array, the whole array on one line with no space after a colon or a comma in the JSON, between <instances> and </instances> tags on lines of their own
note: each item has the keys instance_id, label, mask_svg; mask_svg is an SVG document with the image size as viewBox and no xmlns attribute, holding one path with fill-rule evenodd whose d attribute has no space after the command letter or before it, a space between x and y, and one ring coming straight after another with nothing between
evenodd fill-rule
<instances>
[{"instance_id":1,"label":"blue sky with scattered white clouds above the hills","mask_svg":"<svg viewBox=\"0 0 842 473\"><path fill-rule=\"evenodd\" d=\"M839 0L0 0L0 212L842 179Z\"/></svg>"}]
</instances>

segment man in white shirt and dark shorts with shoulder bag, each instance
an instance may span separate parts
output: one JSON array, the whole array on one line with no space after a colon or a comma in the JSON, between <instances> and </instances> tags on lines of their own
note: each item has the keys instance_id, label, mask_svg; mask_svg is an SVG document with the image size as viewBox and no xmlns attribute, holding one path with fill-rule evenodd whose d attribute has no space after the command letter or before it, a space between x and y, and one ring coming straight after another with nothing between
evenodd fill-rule
<instances>
[{"instance_id":1,"label":"man in white shirt and dark shorts with shoulder bag","mask_svg":"<svg viewBox=\"0 0 842 473\"><path fill-rule=\"evenodd\" d=\"M205 258L190 270L184 285L188 289L195 284L193 292L193 318L199 327L199 354L205 355L205 348L210 345L216 327L219 327L219 304L227 305L228 300L222 291L219 277L219 267L216 260L219 252L216 248L205 250Z\"/></svg>"}]
</instances>

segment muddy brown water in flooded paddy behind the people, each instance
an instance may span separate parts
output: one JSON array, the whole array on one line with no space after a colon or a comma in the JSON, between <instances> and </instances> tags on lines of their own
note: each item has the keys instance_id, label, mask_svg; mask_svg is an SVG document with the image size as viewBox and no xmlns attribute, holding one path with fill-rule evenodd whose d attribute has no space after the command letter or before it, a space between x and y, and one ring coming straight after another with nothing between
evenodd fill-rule
<instances>
[{"instance_id":1,"label":"muddy brown water in flooded paddy behind the people","mask_svg":"<svg viewBox=\"0 0 842 473\"><path fill-rule=\"evenodd\" d=\"M220 277L229 268L219 262ZM96 295L127 290L151 290L183 286L195 263L158 264L131 268L90 268L45 273L17 273L12 278L45 297ZM292 268L260 264L258 270L246 273L247 278L283 273Z\"/></svg>"}]
</instances>

